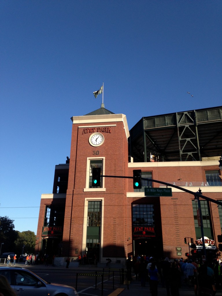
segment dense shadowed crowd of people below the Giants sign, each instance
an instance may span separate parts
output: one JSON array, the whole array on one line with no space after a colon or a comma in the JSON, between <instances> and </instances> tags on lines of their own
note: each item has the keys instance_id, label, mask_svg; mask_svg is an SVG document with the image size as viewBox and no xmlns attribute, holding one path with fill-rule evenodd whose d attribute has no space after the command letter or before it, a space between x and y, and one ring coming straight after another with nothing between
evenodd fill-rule
<instances>
[{"instance_id":1,"label":"dense shadowed crowd of people below the Giants sign","mask_svg":"<svg viewBox=\"0 0 222 296\"><path fill-rule=\"evenodd\" d=\"M168 296L179 296L182 283L193 288L195 296L214 296L216 289L222 288L222 263L217 260L200 264L197 259L158 260L138 255L128 257L126 268L128 280L133 280L133 270L141 286L149 284L152 296L157 296L159 285L166 288Z\"/></svg>"}]
</instances>

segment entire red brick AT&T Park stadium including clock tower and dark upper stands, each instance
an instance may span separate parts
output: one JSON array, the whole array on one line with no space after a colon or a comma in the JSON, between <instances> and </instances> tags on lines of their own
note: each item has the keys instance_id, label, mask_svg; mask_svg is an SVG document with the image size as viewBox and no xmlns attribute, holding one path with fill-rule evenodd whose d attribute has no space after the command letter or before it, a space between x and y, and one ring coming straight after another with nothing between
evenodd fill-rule
<instances>
[{"instance_id":1,"label":"entire red brick AT&T Park stadium including clock tower and dark upper stands","mask_svg":"<svg viewBox=\"0 0 222 296\"><path fill-rule=\"evenodd\" d=\"M104 176L132 177L139 169L143 178L222 201L222 106L143 117L130 131L126 115L104 104L71 120L70 157L55 166L52 194L41 196L36 252L119 262L138 254L184 257L191 238L198 246L194 194L146 180L133 189L131 178ZM98 187L94 167L103 176ZM220 257L222 207L201 198L200 205L207 254ZM202 254L201 246L197 251Z\"/></svg>"}]
</instances>

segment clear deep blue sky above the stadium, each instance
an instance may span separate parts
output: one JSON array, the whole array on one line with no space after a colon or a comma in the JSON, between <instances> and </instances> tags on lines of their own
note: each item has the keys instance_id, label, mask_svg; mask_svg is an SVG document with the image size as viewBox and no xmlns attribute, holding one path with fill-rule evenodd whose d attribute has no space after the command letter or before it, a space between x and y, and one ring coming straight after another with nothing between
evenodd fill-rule
<instances>
[{"instance_id":1,"label":"clear deep blue sky above the stadium","mask_svg":"<svg viewBox=\"0 0 222 296\"><path fill-rule=\"evenodd\" d=\"M222 105L221 0L1 0L0 216L36 233L70 117ZM193 95L193 97L190 94Z\"/></svg>"}]
</instances>

